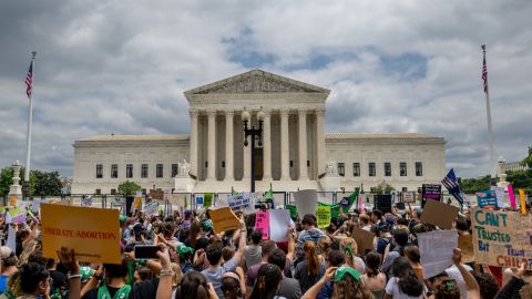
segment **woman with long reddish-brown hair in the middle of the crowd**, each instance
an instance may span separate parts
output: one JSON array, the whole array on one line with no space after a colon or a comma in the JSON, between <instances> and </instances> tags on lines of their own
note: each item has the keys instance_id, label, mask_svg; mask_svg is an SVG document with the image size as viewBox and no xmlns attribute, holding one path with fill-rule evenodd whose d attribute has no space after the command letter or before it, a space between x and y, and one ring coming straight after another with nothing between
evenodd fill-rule
<instances>
[{"instance_id":1,"label":"woman with long reddish-brown hair in the middle of the crowd","mask_svg":"<svg viewBox=\"0 0 532 299\"><path fill-rule=\"evenodd\" d=\"M301 292L305 292L324 276L325 265L318 260L316 243L306 241L303 250L305 259L296 266L294 278L299 280Z\"/></svg>"}]
</instances>

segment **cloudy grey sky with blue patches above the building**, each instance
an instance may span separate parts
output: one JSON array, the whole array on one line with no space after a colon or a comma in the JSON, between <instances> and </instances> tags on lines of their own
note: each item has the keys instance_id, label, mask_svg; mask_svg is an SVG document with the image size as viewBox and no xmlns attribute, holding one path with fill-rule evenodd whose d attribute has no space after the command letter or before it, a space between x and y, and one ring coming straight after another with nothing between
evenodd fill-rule
<instances>
[{"instance_id":1,"label":"cloudy grey sky with blue patches above the building","mask_svg":"<svg viewBox=\"0 0 532 299\"><path fill-rule=\"evenodd\" d=\"M488 173L532 145L532 29L518 1L0 2L0 167L25 161L23 84L37 50L32 168L72 176L72 143L190 131L183 91L252 69L331 90L326 132L444 137L447 167ZM346 107L349 107L346 110Z\"/></svg>"}]
</instances>

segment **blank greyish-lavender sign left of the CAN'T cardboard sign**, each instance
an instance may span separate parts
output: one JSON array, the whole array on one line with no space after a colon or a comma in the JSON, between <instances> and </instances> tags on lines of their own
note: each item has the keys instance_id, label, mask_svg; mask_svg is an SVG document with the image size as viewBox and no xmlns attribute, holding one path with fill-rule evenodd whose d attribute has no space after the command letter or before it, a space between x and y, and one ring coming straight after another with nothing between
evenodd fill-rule
<instances>
[{"instance_id":1,"label":"blank greyish-lavender sign left of the CAN'T cardboard sign","mask_svg":"<svg viewBox=\"0 0 532 299\"><path fill-rule=\"evenodd\" d=\"M458 247L458 234L456 230L418 234L418 247L423 278L431 278L452 265L452 249Z\"/></svg>"}]
</instances>

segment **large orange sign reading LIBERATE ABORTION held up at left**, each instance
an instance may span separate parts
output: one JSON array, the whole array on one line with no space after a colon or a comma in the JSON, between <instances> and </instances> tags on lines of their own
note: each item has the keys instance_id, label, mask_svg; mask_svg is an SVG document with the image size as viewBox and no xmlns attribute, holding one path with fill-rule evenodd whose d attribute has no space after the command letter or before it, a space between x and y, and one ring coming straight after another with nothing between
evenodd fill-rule
<instances>
[{"instance_id":1,"label":"large orange sign reading LIBERATE ABORTION held up at left","mask_svg":"<svg viewBox=\"0 0 532 299\"><path fill-rule=\"evenodd\" d=\"M42 255L57 258L62 246L79 261L121 264L119 210L41 205Z\"/></svg>"}]
</instances>

